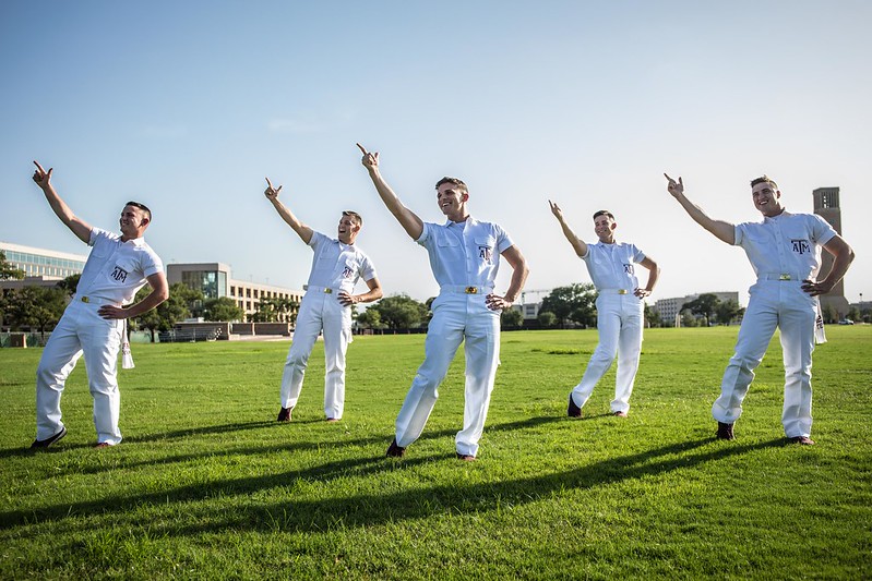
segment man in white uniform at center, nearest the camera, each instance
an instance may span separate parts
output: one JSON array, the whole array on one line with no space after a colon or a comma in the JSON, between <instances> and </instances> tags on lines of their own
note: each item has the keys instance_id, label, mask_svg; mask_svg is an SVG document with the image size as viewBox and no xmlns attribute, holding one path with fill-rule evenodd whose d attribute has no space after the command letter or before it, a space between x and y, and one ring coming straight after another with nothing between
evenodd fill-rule
<instances>
[{"instance_id":1,"label":"man in white uniform at center, nearest the camera","mask_svg":"<svg viewBox=\"0 0 872 581\"><path fill-rule=\"evenodd\" d=\"M475 460L485 429L490 395L500 359L500 313L517 298L528 269L509 234L492 222L469 216L466 184L456 178L437 183L437 204L445 223L422 221L399 201L379 171L379 154L363 153L363 166L391 214L430 255L430 268L440 286L433 317L427 329L425 360L396 419L396 437L387 456L401 457L418 439L439 397L438 388L461 342L465 340L466 390L464 427L455 438L457 458ZM512 267L504 295L493 292L500 256Z\"/></svg>"}]
</instances>

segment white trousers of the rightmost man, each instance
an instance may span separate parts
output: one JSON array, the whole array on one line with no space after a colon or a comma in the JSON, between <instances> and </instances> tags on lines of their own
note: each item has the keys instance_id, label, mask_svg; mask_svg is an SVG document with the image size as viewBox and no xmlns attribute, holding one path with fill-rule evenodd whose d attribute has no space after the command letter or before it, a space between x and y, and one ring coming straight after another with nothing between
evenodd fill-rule
<instances>
[{"instance_id":1,"label":"white trousers of the rightmost man","mask_svg":"<svg viewBox=\"0 0 872 581\"><path fill-rule=\"evenodd\" d=\"M763 361L778 327L785 363L781 424L789 438L811 436L811 372L817 299L803 292L800 285L796 280L758 280L749 289L751 298L739 329L736 354L724 373L720 397L712 407L712 415L718 422L731 424L742 415L742 400L754 379L754 370Z\"/></svg>"}]
</instances>

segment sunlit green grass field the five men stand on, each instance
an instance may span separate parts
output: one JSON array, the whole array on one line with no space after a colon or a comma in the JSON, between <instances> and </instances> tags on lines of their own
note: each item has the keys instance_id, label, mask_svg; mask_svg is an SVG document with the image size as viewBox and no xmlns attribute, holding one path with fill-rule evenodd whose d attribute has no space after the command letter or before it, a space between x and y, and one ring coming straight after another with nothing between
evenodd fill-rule
<instances>
[{"instance_id":1,"label":"sunlit green grass field the five men stand on","mask_svg":"<svg viewBox=\"0 0 872 581\"><path fill-rule=\"evenodd\" d=\"M276 423L288 342L134 346L124 441L95 450L84 365L69 435L35 434L39 349L0 350L0 579L869 579L872 326L815 351L816 446L786 445L773 341L734 441L710 406L737 328L652 329L630 417L614 368L566 397L596 331L502 336L477 462L454 458L463 356L423 436L384 458L423 336L358 337L346 412L323 421L316 346Z\"/></svg>"}]
</instances>

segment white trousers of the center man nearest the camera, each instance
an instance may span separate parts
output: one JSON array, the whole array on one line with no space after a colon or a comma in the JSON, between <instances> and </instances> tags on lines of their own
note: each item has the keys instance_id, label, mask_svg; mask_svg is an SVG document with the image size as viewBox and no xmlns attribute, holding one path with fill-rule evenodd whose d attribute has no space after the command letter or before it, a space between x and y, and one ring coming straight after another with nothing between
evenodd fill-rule
<instances>
[{"instance_id":1,"label":"white trousers of the center man nearest the camera","mask_svg":"<svg viewBox=\"0 0 872 581\"><path fill-rule=\"evenodd\" d=\"M465 340L463 429L457 432L455 446L457 453L476 456L500 360L500 313L485 305L483 294L443 293L431 308L423 363L396 417L396 443L405 448L421 435L439 398L439 385Z\"/></svg>"}]
</instances>

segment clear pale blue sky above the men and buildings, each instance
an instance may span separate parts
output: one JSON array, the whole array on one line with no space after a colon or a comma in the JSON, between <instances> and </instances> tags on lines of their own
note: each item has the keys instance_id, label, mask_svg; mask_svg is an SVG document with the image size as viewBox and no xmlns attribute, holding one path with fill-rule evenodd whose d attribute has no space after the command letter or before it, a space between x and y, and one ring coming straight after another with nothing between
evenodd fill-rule
<instances>
[{"instance_id":1,"label":"clear pale blue sky above the men and buildings","mask_svg":"<svg viewBox=\"0 0 872 581\"><path fill-rule=\"evenodd\" d=\"M527 257L533 292L589 281L547 199L594 241L662 268L654 300L738 290L744 253L696 226L662 172L729 221L758 219L768 173L792 211L841 187L857 259L846 295L872 299L872 4L863 1L21 1L0 4L0 240L86 253L31 181L55 168L70 206L117 229L148 204L165 263L230 264L300 288L311 251L263 196L307 223L343 209L386 292L437 293L426 252L375 194L355 142L425 220L457 175L470 210ZM507 285L507 267L501 290Z\"/></svg>"}]
</instances>

